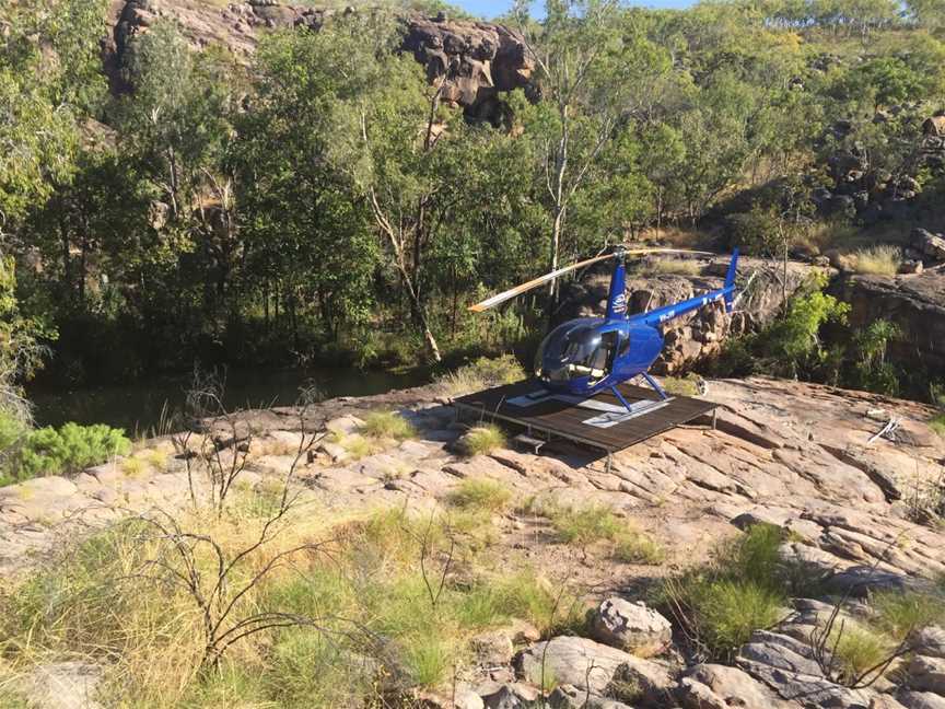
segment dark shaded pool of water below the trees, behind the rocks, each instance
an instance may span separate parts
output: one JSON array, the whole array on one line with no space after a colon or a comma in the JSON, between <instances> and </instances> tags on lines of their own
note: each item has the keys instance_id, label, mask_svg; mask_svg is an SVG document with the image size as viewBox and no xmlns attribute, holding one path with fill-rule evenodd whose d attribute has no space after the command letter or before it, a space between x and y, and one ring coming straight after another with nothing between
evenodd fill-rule
<instances>
[{"instance_id":1,"label":"dark shaded pool of water below the trees, behind the rocks","mask_svg":"<svg viewBox=\"0 0 945 709\"><path fill-rule=\"evenodd\" d=\"M228 408L289 406L299 390L315 385L326 398L366 396L395 388L419 386L429 381L427 372L362 372L354 369L319 368L313 370L265 371L231 370L226 374ZM138 382L124 386L77 390L35 390L30 399L35 405L37 426L108 423L124 428L128 434L154 429L162 409L180 411L189 376Z\"/></svg>"}]
</instances>

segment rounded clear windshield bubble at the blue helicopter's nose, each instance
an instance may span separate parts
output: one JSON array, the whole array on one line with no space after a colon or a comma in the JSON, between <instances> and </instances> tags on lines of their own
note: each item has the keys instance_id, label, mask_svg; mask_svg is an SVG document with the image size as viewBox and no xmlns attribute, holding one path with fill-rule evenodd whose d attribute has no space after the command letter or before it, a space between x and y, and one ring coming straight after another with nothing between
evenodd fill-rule
<instances>
[{"instance_id":1,"label":"rounded clear windshield bubble at the blue helicopter's nose","mask_svg":"<svg viewBox=\"0 0 945 709\"><path fill-rule=\"evenodd\" d=\"M538 349L536 372L549 382L579 376L599 381L614 364L617 333L600 333L588 325L573 323L553 329Z\"/></svg>"}]
</instances>

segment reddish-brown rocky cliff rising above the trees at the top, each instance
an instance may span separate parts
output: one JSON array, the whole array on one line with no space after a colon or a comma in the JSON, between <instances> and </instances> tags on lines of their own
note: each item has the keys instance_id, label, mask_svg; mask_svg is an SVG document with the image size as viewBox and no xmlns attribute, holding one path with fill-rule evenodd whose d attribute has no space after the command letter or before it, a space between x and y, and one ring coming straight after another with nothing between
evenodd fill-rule
<instances>
[{"instance_id":1,"label":"reddish-brown rocky cliff rising above the trees at the top","mask_svg":"<svg viewBox=\"0 0 945 709\"><path fill-rule=\"evenodd\" d=\"M176 22L196 49L220 46L247 62L260 36L277 28L317 32L336 14L354 12L249 0L215 4L208 0L115 0L110 37L105 42L105 68L116 90L122 90L119 68L135 37L161 20ZM500 92L528 85L533 63L518 33L487 22L423 18L401 19L400 49L412 55L433 81L446 77L443 98L462 106L471 118L495 121Z\"/></svg>"}]
</instances>

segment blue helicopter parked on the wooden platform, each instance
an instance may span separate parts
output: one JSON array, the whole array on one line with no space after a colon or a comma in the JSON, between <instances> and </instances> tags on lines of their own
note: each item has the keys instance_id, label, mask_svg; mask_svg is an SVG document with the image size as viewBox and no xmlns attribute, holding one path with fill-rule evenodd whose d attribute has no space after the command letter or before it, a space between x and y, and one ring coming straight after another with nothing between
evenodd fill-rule
<instances>
[{"instance_id":1,"label":"blue helicopter parked on the wooden platform","mask_svg":"<svg viewBox=\"0 0 945 709\"><path fill-rule=\"evenodd\" d=\"M723 302L731 313L736 301L735 274L738 267L738 249L734 249L725 284L702 295L696 295L672 305L645 313L627 313L625 281L628 255L645 254L697 254L714 256L707 252L677 248L616 248L610 254L595 256L517 286L493 295L469 307L482 312L515 298L533 288L538 288L564 274L598 261L614 259L607 313L604 317L579 317L562 323L542 340L535 359L535 376L542 387L555 394L588 398L603 390L610 390L617 399L633 411L633 407L617 387L618 384L642 376L661 399L668 397L654 380L649 369L663 350L663 326L681 315Z\"/></svg>"}]
</instances>

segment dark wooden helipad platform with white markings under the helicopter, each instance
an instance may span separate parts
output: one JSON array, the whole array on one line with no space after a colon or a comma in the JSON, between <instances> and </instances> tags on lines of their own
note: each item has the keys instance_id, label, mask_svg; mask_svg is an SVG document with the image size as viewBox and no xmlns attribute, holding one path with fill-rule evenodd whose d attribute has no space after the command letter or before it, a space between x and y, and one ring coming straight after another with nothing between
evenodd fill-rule
<instances>
[{"instance_id":1,"label":"dark wooden helipad platform with white markings under the helicopter","mask_svg":"<svg viewBox=\"0 0 945 709\"><path fill-rule=\"evenodd\" d=\"M712 402L688 396L674 396L660 408L600 428L588 425L587 421L595 414L599 414L599 410L594 410L595 406L606 408L620 406L620 402L611 392L595 394L585 406L555 398L540 399L528 406L516 406L510 403L510 399L521 400L520 397L532 395L540 388L540 385L534 381L523 381L460 396L453 399L453 405L460 414L471 412L485 420L499 419L516 423L524 427L532 435L540 435L546 440L557 435L591 445L608 454L645 441L680 423L692 421L713 411L718 406ZM634 402L658 402L660 399L649 387L621 384L619 388L631 405Z\"/></svg>"}]
</instances>

